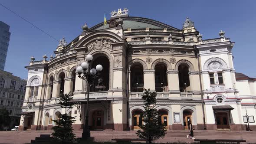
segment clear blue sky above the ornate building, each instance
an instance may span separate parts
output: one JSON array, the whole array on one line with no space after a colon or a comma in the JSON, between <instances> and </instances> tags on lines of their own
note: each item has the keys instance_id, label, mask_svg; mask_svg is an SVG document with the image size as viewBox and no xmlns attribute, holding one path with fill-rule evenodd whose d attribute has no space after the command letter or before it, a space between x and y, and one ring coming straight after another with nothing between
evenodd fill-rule
<instances>
[{"instance_id":1,"label":"clear blue sky above the ornate building","mask_svg":"<svg viewBox=\"0 0 256 144\"><path fill-rule=\"evenodd\" d=\"M219 37L220 29L236 42L233 47L236 72L256 77L256 0L0 0L0 3L43 29L56 39L69 43L81 34L81 26L101 23L104 13L128 8L130 16L146 17L181 29L189 17L203 39ZM0 20L10 25L10 44L5 70L27 79L24 68L30 57L49 57L58 42L20 17L0 6ZM49 58L48 58L49 59Z\"/></svg>"}]
</instances>

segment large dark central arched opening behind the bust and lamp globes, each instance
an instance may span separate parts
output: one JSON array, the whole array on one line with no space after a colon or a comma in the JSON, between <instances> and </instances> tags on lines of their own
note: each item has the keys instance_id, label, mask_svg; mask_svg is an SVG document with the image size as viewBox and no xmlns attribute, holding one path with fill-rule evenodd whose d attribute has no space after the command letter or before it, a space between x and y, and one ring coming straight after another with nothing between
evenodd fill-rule
<instances>
[{"instance_id":1,"label":"large dark central arched opening behind the bust and lamp globes","mask_svg":"<svg viewBox=\"0 0 256 144\"><path fill-rule=\"evenodd\" d=\"M109 59L106 56L99 55L93 55L93 60L91 63L91 68L96 67L96 65L102 65L103 69L100 72L100 76L95 79L90 87L90 92L100 92L100 91L108 91L109 90ZM97 88L98 85L98 79L102 79L102 85L105 86L104 89Z\"/></svg>"}]
</instances>

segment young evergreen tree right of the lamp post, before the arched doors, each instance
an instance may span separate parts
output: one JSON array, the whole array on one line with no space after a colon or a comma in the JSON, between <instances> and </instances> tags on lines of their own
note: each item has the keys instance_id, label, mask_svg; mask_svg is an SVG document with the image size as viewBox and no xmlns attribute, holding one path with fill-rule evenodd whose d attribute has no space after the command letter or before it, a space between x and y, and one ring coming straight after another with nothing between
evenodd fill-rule
<instances>
[{"instance_id":1,"label":"young evergreen tree right of the lamp post, before the arched doors","mask_svg":"<svg viewBox=\"0 0 256 144\"><path fill-rule=\"evenodd\" d=\"M158 111L155 108L156 104L156 92L150 92L148 89L144 89L144 94L142 98L144 99L144 111L141 114L144 124L139 125L139 130L136 132L138 137L146 139L148 143L164 138L166 130L164 129L164 124L158 118Z\"/></svg>"}]
</instances>

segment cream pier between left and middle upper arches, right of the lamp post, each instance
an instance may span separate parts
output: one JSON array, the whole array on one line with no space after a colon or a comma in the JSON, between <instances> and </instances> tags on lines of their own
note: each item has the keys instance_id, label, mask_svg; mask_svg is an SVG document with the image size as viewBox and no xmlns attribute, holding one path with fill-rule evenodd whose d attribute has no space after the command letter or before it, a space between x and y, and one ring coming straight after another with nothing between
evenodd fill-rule
<instances>
[{"instance_id":1,"label":"cream pier between left and middle upper arches, right of the lamp post","mask_svg":"<svg viewBox=\"0 0 256 144\"><path fill-rule=\"evenodd\" d=\"M144 88L150 89L151 91L155 91L155 82L154 82L154 72L155 70L147 70L145 69L143 71L143 77L144 77Z\"/></svg>"}]
</instances>

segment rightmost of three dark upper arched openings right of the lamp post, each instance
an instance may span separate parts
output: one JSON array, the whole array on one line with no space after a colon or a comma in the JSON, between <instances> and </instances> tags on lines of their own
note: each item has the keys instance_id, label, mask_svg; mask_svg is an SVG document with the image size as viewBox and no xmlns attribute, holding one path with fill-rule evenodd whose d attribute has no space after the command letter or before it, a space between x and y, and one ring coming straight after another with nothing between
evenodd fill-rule
<instances>
[{"instance_id":1,"label":"rightmost of three dark upper arched openings right of the lamp post","mask_svg":"<svg viewBox=\"0 0 256 144\"><path fill-rule=\"evenodd\" d=\"M189 69L186 63L182 63L178 67L179 70L179 85L180 85L180 92L190 92L190 80L189 80Z\"/></svg>"}]
</instances>

